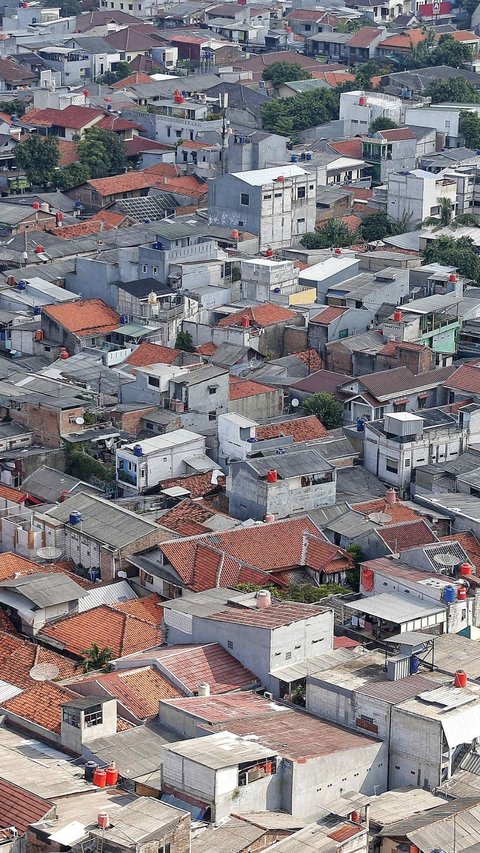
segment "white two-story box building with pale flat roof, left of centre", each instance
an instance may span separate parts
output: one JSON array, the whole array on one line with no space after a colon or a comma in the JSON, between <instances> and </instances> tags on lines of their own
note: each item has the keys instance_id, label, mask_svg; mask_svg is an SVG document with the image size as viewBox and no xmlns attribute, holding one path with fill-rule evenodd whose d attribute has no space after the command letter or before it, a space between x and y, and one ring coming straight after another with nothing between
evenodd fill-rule
<instances>
[{"instance_id":1,"label":"white two-story box building with pale flat roof, left of centre","mask_svg":"<svg viewBox=\"0 0 480 853\"><path fill-rule=\"evenodd\" d=\"M177 429L124 445L117 450L115 467L119 492L128 496L169 477L209 471L217 466L205 454L202 435Z\"/></svg>"}]
</instances>

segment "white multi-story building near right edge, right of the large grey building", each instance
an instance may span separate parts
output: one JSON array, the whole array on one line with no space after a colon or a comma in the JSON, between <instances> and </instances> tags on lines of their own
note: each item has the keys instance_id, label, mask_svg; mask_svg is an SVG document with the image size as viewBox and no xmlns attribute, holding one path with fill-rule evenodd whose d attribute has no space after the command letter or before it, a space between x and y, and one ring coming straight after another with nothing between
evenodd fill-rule
<instances>
[{"instance_id":1,"label":"white multi-story building near right edge, right of the large grey building","mask_svg":"<svg viewBox=\"0 0 480 853\"><path fill-rule=\"evenodd\" d=\"M343 96L342 96L343 97ZM404 218L415 228L430 216L440 213L439 199L449 199L456 210L457 181L446 175L432 175L423 169L392 172L388 176L387 214L395 222Z\"/></svg>"}]
</instances>

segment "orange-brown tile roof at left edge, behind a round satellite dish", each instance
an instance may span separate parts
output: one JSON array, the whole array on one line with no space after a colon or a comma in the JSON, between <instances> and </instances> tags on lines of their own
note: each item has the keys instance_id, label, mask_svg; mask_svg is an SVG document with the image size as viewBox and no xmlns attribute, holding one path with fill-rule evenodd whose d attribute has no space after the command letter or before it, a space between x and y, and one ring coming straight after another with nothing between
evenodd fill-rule
<instances>
[{"instance_id":1,"label":"orange-brown tile roof at left edge, behind a round satellite dish","mask_svg":"<svg viewBox=\"0 0 480 853\"><path fill-rule=\"evenodd\" d=\"M23 637L0 631L0 679L23 689L36 683L30 675L34 666L50 664L57 667L56 678L70 678L75 664L52 649L45 649ZM55 679L51 679L54 681Z\"/></svg>"}]
</instances>

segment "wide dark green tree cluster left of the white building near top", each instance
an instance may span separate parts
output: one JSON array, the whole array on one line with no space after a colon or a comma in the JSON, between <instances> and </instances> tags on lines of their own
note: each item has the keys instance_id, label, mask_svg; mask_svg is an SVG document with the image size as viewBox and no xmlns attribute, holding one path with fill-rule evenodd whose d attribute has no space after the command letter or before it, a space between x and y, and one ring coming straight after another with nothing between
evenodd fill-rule
<instances>
[{"instance_id":1,"label":"wide dark green tree cluster left of the white building near top","mask_svg":"<svg viewBox=\"0 0 480 853\"><path fill-rule=\"evenodd\" d=\"M293 98L274 98L262 107L262 125L270 133L290 136L338 119L340 94L329 89L302 92Z\"/></svg>"}]
</instances>

